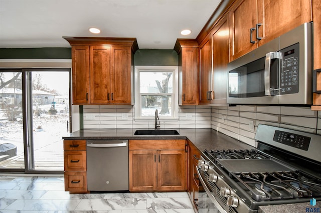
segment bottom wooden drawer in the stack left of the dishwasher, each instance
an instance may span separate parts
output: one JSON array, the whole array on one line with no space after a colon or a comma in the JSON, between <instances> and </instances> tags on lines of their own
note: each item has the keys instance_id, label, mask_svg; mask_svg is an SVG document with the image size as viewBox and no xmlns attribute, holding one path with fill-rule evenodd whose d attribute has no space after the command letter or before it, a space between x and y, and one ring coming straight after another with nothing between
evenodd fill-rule
<instances>
[{"instance_id":1,"label":"bottom wooden drawer in the stack left of the dishwasher","mask_svg":"<svg viewBox=\"0 0 321 213\"><path fill-rule=\"evenodd\" d=\"M87 191L87 173L65 172L65 191Z\"/></svg>"}]
</instances>

